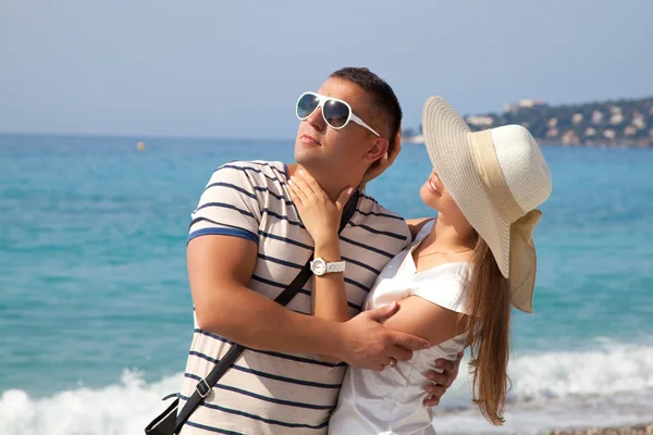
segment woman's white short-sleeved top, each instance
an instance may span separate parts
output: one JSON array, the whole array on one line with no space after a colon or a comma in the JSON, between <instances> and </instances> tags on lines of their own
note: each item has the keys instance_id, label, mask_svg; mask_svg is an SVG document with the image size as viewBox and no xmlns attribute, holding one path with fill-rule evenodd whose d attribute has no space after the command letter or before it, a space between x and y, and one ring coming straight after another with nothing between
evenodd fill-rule
<instances>
[{"instance_id":1,"label":"woman's white short-sleeved top","mask_svg":"<svg viewBox=\"0 0 653 435\"><path fill-rule=\"evenodd\" d=\"M415 241L383 269L365 302L371 310L409 296L419 296L449 310L466 313L464 283L469 263L444 263L417 272L412 250L429 234L424 225ZM382 372L349 366L340 393L337 408L329 421L329 433L433 434L432 412L423 406L427 372L438 370L435 359L455 360L465 348L466 335L458 335L430 349L412 353L395 369Z\"/></svg>"}]
</instances>

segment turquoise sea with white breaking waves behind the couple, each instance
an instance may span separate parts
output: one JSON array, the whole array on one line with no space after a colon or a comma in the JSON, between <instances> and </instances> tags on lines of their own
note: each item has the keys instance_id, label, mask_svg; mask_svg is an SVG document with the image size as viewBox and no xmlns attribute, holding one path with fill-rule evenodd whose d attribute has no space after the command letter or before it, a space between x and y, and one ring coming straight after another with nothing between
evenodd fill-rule
<instances>
[{"instance_id":1,"label":"turquoise sea with white breaking waves behind the couple","mask_svg":"<svg viewBox=\"0 0 653 435\"><path fill-rule=\"evenodd\" d=\"M554 192L535 229L535 314L515 315L498 431L653 420L653 150L543 151ZM0 135L0 434L140 433L181 382L205 184L227 161L292 156L293 140ZM368 191L429 215L430 170L405 145ZM464 377L436 427L492 431Z\"/></svg>"}]
</instances>

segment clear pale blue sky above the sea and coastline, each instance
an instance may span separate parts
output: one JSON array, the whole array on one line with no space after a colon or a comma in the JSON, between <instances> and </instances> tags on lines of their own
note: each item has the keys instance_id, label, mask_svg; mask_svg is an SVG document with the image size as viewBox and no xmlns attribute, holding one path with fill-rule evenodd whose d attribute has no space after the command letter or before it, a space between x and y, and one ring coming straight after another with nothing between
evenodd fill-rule
<instances>
[{"instance_id":1,"label":"clear pale blue sky above the sea and coastline","mask_svg":"<svg viewBox=\"0 0 653 435\"><path fill-rule=\"evenodd\" d=\"M368 66L406 127L653 95L653 2L2 0L0 132L292 138L294 104Z\"/></svg>"}]
</instances>

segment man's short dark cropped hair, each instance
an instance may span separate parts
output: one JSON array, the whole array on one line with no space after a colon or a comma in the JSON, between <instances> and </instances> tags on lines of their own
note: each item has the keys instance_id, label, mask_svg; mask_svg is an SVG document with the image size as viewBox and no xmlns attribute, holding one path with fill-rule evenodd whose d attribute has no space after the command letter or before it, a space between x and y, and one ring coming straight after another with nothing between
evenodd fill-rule
<instances>
[{"instance_id":1,"label":"man's short dark cropped hair","mask_svg":"<svg viewBox=\"0 0 653 435\"><path fill-rule=\"evenodd\" d=\"M374 108L372 109L381 114L385 123L383 130L379 133L389 135L390 147L387 152L392 151L394 138L402 125L403 113L399 100L390 85L366 67L346 66L332 73L330 77L341 78L358 85L373 97Z\"/></svg>"}]
</instances>

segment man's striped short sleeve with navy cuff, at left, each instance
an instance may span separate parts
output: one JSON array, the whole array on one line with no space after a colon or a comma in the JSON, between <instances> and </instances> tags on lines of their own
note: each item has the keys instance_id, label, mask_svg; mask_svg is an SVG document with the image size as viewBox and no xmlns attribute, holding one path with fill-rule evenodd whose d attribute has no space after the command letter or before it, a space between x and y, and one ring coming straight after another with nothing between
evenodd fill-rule
<instances>
[{"instance_id":1,"label":"man's striped short sleeve with navy cuff, at left","mask_svg":"<svg viewBox=\"0 0 653 435\"><path fill-rule=\"evenodd\" d=\"M259 199L247 165L233 162L213 172L192 213L188 241L205 235L246 238L258 243Z\"/></svg>"}]
</instances>

